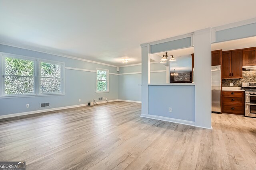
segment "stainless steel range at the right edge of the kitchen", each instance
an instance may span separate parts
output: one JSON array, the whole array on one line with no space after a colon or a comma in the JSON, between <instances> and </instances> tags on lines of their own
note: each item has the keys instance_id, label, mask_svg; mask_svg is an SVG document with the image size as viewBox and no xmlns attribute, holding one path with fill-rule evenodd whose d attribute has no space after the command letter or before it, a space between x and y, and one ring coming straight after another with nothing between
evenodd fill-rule
<instances>
[{"instance_id":1,"label":"stainless steel range at the right edge of the kitchen","mask_svg":"<svg viewBox=\"0 0 256 170\"><path fill-rule=\"evenodd\" d=\"M245 90L245 116L256 117L256 82L242 83Z\"/></svg>"}]
</instances>

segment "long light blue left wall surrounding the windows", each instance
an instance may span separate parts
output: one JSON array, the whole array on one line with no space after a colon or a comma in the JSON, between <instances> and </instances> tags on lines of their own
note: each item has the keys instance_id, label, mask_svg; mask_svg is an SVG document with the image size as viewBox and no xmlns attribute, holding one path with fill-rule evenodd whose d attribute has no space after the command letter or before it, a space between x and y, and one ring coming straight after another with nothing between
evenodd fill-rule
<instances>
[{"instance_id":1,"label":"long light blue left wall surrounding the windows","mask_svg":"<svg viewBox=\"0 0 256 170\"><path fill-rule=\"evenodd\" d=\"M103 64L88 63L60 57L57 55L50 55L36 51L0 45L0 52L11 53L16 55L23 55L27 57L35 57L39 59L46 59L51 61L64 62L65 69L65 94L62 95L49 95L49 96L20 96L14 98L0 98L0 116L13 113L23 113L32 111L42 111L43 109L53 109L58 107L80 106L88 104L93 99L96 102L99 97L105 97L110 100L118 99L118 72L116 67L107 66ZM110 92L96 93L96 68L108 69L110 72ZM2 65L0 66L2 70ZM113 74L111 74L113 73ZM81 102L79 102L81 99ZM40 103L50 102L50 107L40 108ZM26 108L26 104L30 104Z\"/></svg>"}]
</instances>

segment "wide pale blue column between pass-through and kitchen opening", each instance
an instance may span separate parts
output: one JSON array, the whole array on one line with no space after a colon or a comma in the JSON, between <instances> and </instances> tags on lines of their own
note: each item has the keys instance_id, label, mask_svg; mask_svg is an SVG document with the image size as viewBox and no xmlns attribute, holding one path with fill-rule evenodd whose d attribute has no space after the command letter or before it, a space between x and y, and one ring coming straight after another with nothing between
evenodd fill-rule
<instances>
[{"instance_id":1,"label":"wide pale blue column between pass-through and kitchen opening","mask_svg":"<svg viewBox=\"0 0 256 170\"><path fill-rule=\"evenodd\" d=\"M212 128L211 29L194 35L195 125Z\"/></svg>"}]
</instances>

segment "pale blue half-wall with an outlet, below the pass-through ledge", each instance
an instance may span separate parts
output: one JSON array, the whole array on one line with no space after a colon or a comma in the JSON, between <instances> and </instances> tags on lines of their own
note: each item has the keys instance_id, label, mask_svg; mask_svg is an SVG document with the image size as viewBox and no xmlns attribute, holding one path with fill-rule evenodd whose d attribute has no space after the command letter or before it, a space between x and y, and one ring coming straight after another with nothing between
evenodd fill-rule
<instances>
[{"instance_id":1,"label":"pale blue half-wall with an outlet, below the pass-through ledge","mask_svg":"<svg viewBox=\"0 0 256 170\"><path fill-rule=\"evenodd\" d=\"M148 114L195 121L195 86L149 86L148 93Z\"/></svg>"}]
</instances>

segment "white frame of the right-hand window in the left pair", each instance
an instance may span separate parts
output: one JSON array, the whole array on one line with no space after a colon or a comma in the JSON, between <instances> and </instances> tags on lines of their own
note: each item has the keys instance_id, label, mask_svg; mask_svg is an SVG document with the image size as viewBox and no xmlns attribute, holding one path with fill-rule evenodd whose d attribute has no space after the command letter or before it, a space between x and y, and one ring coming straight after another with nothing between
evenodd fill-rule
<instances>
[{"instance_id":1,"label":"white frame of the right-hand window in the left pair","mask_svg":"<svg viewBox=\"0 0 256 170\"><path fill-rule=\"evenodd\" d=\"M60 69L60 92L58 93L41 93L41 78L52 78L52 77L41 77L41 63L49 63L49 64L58 64L61 66ZM45 95L45 94L63 94L64 93L64 68L65 68L65 63L62 62L57 62L57 61L50 61L50 60L39 60L38 61L38 94L39 95Z\"/></svg>"}]
</instances>

